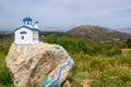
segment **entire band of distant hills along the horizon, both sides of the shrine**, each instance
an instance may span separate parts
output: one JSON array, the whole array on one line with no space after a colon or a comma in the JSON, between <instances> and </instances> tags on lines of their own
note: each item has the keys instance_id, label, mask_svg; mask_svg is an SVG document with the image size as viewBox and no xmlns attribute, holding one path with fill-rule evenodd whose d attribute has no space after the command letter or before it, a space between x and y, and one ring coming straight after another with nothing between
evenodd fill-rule
<instances>
[{"instance_id":1,"label":"entire band of distant hills along the horizon, both sides of the shrine","mask_svg":"<svg viewBox=\"0 0 131 87\"><path fill-rule=\"evenodd\" d=\"M130 30L130 28L127 28ZM120 30L120 29L119 29ZM126 30L126 29L124 29ZM128 32L130 33L130 32ZM122 30L117 32L109 28L93 26L93 25L81 25L74 27L68 32L44 32L40 30L40 36L47 36L50 34L56 34L58 36L69 36L69 37L82 37L84 39L99 39L99 40L127 40L131 38L131 34L123 33ZM11 30L1 30L1 35L13 36L13 32Z\"/></svg>"}]
</instances>

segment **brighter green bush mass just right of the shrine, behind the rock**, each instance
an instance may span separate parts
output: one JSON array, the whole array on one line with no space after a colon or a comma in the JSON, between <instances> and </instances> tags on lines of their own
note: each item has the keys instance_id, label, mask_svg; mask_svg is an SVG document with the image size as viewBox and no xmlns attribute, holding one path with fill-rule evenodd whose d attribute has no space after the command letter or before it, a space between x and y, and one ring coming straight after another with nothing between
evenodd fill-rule
<instances>
[{"instance_id":1,"label":"brighter green bush mass just right of the shrine, behind the rock","mask_svg":"<svg viewBox=\"0 0 131 87\"><path fill-rule=\"evenodd\" d=\"M44 39L41 38L41 40L49 44L58 44L66 48L68 51L72 52L92 53L93 51L93 48L90 47L83 39L74 39L67 36L58 37L57 35L51 34Z\"/></svg>"}]
</instances>

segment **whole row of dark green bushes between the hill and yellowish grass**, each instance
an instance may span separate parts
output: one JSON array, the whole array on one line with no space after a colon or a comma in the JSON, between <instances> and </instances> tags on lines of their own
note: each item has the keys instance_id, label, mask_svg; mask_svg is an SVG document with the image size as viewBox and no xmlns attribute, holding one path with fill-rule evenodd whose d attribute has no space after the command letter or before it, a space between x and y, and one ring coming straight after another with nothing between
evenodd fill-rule
<instances>
[{"instance_id":1,"label":"whole row of dark green bushes between the hill and yellowish grass","mask_svg":"<svg viewBox=\"0 0 131 87\"><path fill-rule=\"evenodd\" d=\"M87 44L82 38L70 38L68 36L62 36L58 37L56 34L50 34L47 35L46 37L41 37L43 41L49 42L49 44L58 44L66 48L68 51L72 52L83 52L87 54L103 54L103 55L116 55L121 53L121 48L122 45L120 44L111 44L111 45L106 45L106 44Z\"/></svg>"}]
</instances>

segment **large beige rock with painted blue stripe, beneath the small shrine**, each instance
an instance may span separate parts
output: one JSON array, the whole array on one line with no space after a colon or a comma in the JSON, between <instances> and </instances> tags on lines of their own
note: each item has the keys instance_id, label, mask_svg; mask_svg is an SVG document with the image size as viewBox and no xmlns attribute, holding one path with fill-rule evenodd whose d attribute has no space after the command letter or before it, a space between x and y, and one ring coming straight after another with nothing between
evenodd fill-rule
<instances>
[{"instance_id":1,"label":"large beige rock with painted blue stripe, beneath the small shrine","mask_svg":"<svg viewBox=\"0 0 131 87\"><path fill-rule=\"evenodd\" d=\"M15 87L32 87L39 83L41 87L55 83L60 87L73 65L62 47L46 42L12 44L5 62Z\"/></svg>"}]
</instances>

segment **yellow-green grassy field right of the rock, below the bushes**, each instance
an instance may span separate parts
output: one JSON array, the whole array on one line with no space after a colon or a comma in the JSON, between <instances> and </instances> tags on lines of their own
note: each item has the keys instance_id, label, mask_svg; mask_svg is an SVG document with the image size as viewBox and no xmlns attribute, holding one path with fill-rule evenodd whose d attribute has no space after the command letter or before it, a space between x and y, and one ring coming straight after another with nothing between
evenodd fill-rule
<instances>
[{"instance_id":1,"label":"yellow-green grassy field right of the rock, below the bushes","mask_svg":"<svg viewBox=\"0 0 131 87\"><path fill-rule=\"evenodd\" d=\"M84 53L71 55L75 65L68 79L73 85L79 84L76 87L82 86L84 79L92 80L88 84L91 87L130 87L130 61L124 62L123 55L93 57Z\"/></svg>"}]
</instances>

